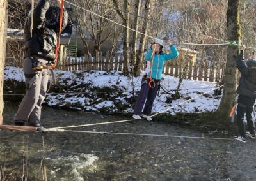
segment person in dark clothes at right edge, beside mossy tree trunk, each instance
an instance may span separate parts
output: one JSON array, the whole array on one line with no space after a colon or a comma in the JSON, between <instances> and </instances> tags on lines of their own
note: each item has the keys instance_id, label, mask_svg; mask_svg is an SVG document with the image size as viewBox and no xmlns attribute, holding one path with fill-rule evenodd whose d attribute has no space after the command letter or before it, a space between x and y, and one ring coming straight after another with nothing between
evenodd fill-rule
<instances>
[{"instance_id":1,"label":"person in dark clothes at right edge, beside mossy tree trunk","mask_svg":"<svg viewBox=\"0 0 256 181\"><path fill-rule=\"evenodd\" d=\"M253 105L256 98L256 60L255 57L244 62L245 45L241 46L241 53L237 55L237 68L241 72L239 86L237 87L237 126L239 136L234 136L236 140L246 142L245 136L255 139L255 127L252 118ZM244 130L244 114L246 114L248 132Z\"/></svg>"}]
</instances>

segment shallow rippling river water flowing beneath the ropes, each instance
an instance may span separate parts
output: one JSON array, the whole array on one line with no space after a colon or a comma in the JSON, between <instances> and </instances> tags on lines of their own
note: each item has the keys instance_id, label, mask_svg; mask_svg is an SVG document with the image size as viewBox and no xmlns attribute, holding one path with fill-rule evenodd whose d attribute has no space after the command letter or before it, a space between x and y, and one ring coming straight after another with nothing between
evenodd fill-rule
<instances>
[{"instance_id":1,"label":"shallow rippling river water flowing beneath the ropes","mask_svg":"<svg viewBox=\"0 0 256 181\"><path fill-rule=\"evenodd\" d=\"M5 103L4 124L13 124L17 106L17 103ZM45 127L127 119L130 118L100 113L68 112L49 107L42 110L42 125ZM232 138L232 134L225 131L196 131L193 127L166 121L140 120L73 130ZM3 130L0 131L0 138L0 166L6 178L10 180L43 180L40 167L42 161L45 163L47 180L256 178L256 142L249 139L246 143L240 143L236 140L72 132L41 134ZM24 150L27 163L25 166Z\"/></svg>"}]
</instances>

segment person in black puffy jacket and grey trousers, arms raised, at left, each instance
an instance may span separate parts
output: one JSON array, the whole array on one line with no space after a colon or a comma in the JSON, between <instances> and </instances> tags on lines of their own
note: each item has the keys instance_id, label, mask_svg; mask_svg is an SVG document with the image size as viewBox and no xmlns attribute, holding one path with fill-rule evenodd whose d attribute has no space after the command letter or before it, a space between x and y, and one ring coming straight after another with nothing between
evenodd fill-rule
<instances>
[{"instance_id":1,"label":"person in black puffy jacket and grey trousers, arms raised, at left","mask_svg":"<svg viewBox=\"0 0 256 181\"><path fill-rule=\"evenodd\" d=\"M57 2L61 7L61 0L57 0ZM60 13L52 15L48 11L49 7L49 0L39 0L33 10L33 23L30 11L24 25L26 56L23 62L23 71L26 94L14 117L15 124L19 126L27 124L40 127L41 105L49 82L48 68L54 64L54 60L57 58L55 48L60 29ZM62 30L67 25L67 18L67 11L64 10Z\"/></svg>"}]
</instances>

